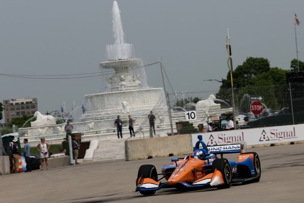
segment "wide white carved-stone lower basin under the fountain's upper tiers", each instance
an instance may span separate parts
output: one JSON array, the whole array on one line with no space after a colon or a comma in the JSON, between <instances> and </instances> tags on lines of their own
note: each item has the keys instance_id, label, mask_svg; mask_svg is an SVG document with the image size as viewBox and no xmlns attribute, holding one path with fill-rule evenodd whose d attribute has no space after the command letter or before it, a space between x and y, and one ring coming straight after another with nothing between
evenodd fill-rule
<instances>
[{"instance_id":1,"label":"wide white carved-stone lower basin under the fountain's upper tiers","mask_svg":"<svg viewBox=\"0 0 304 203\"><path fill-rule=\"evenodd\" d=\"M148 115L165 98L163 88L132 89L85 95L87 111L81 121L115 119L117 115ZM165 102L154 109L164 109ZM114 121L113 121L114 122Z\"/></svg>"}]
</instances>

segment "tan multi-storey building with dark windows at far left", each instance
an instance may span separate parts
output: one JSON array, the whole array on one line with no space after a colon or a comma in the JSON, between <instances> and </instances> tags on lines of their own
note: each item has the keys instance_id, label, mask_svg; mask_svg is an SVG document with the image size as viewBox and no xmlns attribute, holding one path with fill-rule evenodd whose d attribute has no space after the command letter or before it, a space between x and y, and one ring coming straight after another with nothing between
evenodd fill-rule
<instances>
[{"instance_id":1,"label":"tan multi-storey building with dark windows at far left","mask_svg":"<svg viewBox=\"0 0 304 203\"><path fill-rule=\"evenodd\" d=\"M3 100L3 108L5 123L9 123L12 118L34 115L38 110L37 98Z\"/></svg>"}]
</instances>

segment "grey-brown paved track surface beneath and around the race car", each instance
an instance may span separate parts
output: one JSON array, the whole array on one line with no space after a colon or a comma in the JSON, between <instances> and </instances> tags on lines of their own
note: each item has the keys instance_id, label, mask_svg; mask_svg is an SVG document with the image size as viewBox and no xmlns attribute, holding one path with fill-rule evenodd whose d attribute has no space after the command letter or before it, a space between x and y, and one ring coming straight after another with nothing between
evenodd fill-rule
<instances>
[{"instance_id":1,"label":"grey-brown paved track surface beneath and around the race car","mask_svg":"<svg viewBox=\"0 0 304 203\"><path fill-rule=\"evenodd\" d=\"M248 149L261 160L258 183L229 189L181 192L163 189L153 196L135 190L140 165L153 164L160 173L170 158L91 162L76 166L0 176L0 202L303 202L304 144ZM237 154L224 156L235 160Z\"/></svg>"}]
</instances>

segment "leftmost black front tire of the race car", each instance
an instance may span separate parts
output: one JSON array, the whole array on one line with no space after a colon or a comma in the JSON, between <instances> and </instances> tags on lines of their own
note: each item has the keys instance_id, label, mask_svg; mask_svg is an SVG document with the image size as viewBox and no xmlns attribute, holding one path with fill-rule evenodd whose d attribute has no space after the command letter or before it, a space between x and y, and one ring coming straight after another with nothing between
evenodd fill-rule
<instances>
[{"instance_id":1,"label":"leftmost black front tire of the race car","mask_svg":"<svg viewBox=\"0 0 304 203\"><path fill-rule=\"evenodd\" d=\"M154 165L146 164L146 165L141 165L138 174L137 174L137 179L136 179L136 186L138 184L138 179L143 176L143 178L151 178L155 181L157 181L157 170ZM140 194L143 195L152 195L155 193L154 191L139 191Z\"/></svg>"}]
</instances>

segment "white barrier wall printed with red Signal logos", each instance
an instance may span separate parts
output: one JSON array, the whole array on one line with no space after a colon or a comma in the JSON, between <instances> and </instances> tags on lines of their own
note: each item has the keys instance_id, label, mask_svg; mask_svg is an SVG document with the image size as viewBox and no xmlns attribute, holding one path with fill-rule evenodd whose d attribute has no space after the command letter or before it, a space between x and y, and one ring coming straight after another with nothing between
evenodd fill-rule
<instances>
[{"instance_id":1,"label":"white barrier wall printed with red Signal logos","mask_svg":"<svg viewBox=\"0 0 304 203\"><path fill-rule=\"evenodd\" d=\"M197 135L202 135L206 145L226 145L246 142L247 145L273 144L279 142L294 142L304 140L304 124L284 125L264 128L247 128L243 130L213 131L192 134L192 145L198 141Z\"/></svg>"}]
</instances>

